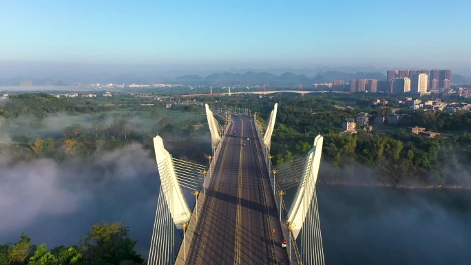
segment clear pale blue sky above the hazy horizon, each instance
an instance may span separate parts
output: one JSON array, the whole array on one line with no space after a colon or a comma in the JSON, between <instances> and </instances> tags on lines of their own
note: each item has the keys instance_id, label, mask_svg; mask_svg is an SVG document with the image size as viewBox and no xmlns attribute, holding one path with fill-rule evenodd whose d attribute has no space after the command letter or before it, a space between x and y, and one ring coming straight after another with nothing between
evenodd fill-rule
<instances>
[{"instance_id":1,"label":"clear pale blue sky above the hazy horizon","mask_svg":"<svg viewBox=\"0 0 471 265\"><path fill-rule=\"evenodd\" d=\"M0 61L470 71L471 1L0 3Z\"/></svg>"}]
</instances>

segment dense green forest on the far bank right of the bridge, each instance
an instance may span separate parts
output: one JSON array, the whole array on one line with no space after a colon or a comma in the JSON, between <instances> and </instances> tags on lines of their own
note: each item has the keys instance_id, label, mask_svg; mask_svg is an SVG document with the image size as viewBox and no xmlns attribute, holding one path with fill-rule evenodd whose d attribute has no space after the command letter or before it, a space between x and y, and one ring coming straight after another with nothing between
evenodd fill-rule
<instances>
[{"instance_id":1,"label":"dense green forest on the far bank right of the bridge","mask_svg":"<svg viewBox=\"0 0 471 265\"><path fill-rule=\"evenodd\" d=\"M229 109L238 106L260 112L265 120L278 103L271 144L275 165L304 156L311 149L315 136L324 136L320 182L395 187L471 186L470 112L411 111L395 103L404 98L388 98L388 105L371 106L376 96L278 94L217 100L219 105ZM343 131L344 118L354 118L360 112L372 117L383 116L393 109L402 117L397 124L373 125L373 131L353 135L339 134ZM410 127L416 125L439 132L441 136L424 138L411 134ZM368 169L368 173L361 169Z\"/></svg>"}]
</instances>

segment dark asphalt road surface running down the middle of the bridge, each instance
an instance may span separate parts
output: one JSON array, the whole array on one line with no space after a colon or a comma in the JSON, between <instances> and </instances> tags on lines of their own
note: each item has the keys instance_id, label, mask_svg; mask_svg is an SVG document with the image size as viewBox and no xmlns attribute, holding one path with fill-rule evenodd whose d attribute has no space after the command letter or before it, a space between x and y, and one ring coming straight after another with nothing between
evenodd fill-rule
<instances>
[{"instance_id":1,"label":"dark asphalt road surface running down the middle of the bridge","mask_svg":"<svg viewBox=\"0 0 471 265\"><path fill-rule=\"evenodd\" d=\"M289 264L253 120L231 120L187 264Z\"/></svg>"}]
</instances>

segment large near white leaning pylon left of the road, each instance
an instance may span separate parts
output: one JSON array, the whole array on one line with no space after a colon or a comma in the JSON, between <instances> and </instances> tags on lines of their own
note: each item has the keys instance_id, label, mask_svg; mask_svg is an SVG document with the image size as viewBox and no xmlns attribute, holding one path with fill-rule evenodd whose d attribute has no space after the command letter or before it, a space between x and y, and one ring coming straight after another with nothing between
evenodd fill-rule
<instances>
[{"instance_id":1,"label":"large near white leaning pylon left of the road","mask_svg":"<svg viewBox=\"0 0 471 265\"><path fill-rule=\"evenodd\" d=\"M174 224L178 229L182 229L182 223L189 221L191 211L177 180L174 162L170 153L165 150L160 136L154 137L154 149L156 151L158 175L160 176L160 191L164 192L165 201L169 206L169 210L171 210L171 218L174 220Z\"/></svg>"}]
</instances>

